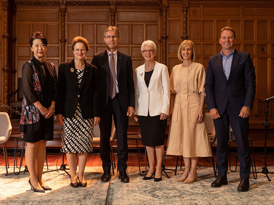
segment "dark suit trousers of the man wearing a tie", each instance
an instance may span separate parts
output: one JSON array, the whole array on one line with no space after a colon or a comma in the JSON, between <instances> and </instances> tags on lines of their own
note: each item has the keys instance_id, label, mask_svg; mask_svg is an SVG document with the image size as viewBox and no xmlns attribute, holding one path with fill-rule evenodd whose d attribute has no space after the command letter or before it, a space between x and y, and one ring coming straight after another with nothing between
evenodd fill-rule
<instances>
[{"instance_id":1,"label":"dark suit trousers of the man wearing a tie","mask_svg":"<svg viewBox=\"0 0 274 205\"><path fill-rule=\"evenodd\" d=\"M117 96L117 94L116 94ZM120 98L109 98L107 107L101 111L100 127L100 157L102 160L102 167L104 171L111 169L110 160L110 136L112 128L112 116L116 129L117 140L117 168L120 172L126 171L128 160L128 148L127 148L127 128L129 124L129 118L126 112L122 111Z\"/></svg>"}]
</instances>

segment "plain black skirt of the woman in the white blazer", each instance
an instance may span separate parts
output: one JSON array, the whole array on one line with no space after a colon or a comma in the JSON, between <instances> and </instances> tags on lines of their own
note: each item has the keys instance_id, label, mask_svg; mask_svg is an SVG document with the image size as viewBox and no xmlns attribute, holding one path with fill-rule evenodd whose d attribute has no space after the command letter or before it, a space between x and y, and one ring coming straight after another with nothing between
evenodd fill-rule
<instances>
[{"instance_id":1,"label":"plain black skirt of the woman in the white blazer","mask_svg":"<svg viewBox=\"0 0 274 205\"><path fill-rule=\"evenodd\" d=\"M144 146L161 146L165 144L167 119L160 120L161 115L139 116L139 125Z\"/></svg>"}]
</instances>

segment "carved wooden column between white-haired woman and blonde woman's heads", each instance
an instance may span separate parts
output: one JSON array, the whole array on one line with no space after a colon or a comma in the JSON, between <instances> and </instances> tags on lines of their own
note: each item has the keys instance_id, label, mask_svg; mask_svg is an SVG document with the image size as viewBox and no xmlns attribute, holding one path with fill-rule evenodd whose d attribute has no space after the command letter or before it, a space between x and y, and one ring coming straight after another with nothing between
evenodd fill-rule
<instances>
[{"instance_id":1,"label":"carved wooden column between white-haired woman and blonde woman's heads","mask_svg":"<svg viewBox=\"0 0 274 205\"><path fill-rule=\"evenodd\" d=\"M162 57L163 57L163 64L167 65L167 0L162 1L162 19L163 19L163 25L162 25Z\"/></svg>"}]
</instances>

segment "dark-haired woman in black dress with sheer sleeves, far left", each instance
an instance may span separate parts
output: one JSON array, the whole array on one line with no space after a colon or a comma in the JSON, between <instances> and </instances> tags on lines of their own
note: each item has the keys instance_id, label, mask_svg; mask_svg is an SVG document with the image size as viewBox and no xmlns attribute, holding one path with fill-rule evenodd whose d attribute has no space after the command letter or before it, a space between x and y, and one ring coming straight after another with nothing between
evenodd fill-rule
<instances>
[{"instance_id":1,"label":"dark-haired woman in black dress with sheer sleeves, far left","mask_svg":"<svg viewBox=\"0 0 274 205\"><path fill-rule=\"evenodd\" d=\"M37 31L30 38L33 58L22 68L23 103L20 132L27 142L25 159L30 173L31 189L35 192L51 190L45 186L42 172L46 141L53 140L53 111L56 99L57 76L53 63L44 59L47 39Z\"/></svg>"}]
</instances>

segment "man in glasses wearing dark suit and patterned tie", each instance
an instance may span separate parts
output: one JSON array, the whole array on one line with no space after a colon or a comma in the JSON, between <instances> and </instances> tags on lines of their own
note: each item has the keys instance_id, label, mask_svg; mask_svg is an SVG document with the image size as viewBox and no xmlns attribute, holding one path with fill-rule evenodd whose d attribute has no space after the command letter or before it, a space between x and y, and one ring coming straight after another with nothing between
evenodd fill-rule
<instances>
[{"instance_id":1,"label":"man in glasses wearing dark suit and patterned tie","mask_svg":"<svg viewBox=\"0 0 274 205\"><path fill-rule=\"evenodd\" d=\"M128 183L129 177L126 173L128 159L127 127L129 124L128 116L134 114L135 90L131 57L117 49L120 39L118 28L108 27L104 33L107 49L96 53L91 64L97 67L99 77L101 103L100 157L104 170L101 181L110 180L109 140L113 116L116 128L119 179L121 182Z\"/></svg>"}]
</instances>

